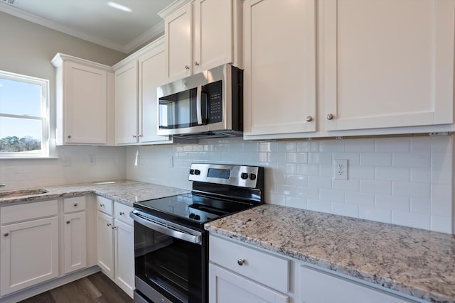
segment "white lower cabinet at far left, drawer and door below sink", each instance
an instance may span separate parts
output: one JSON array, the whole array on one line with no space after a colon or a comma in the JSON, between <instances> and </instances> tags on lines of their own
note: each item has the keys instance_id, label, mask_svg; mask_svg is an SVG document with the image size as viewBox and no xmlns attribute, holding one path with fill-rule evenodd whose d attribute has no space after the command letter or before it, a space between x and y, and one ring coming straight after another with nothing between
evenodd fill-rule
<instances>
[{"instance_id":1,"label":"white lower cabinet at far left, drawer and door below sink","mask_svg":"<svg viewBox=\"0 0 455 303\"><path fill-rule=\"evenodd\" d=\"M58 277L57 200L4 206L0 222L0 296Z\"/></svg>"}]
</instances>

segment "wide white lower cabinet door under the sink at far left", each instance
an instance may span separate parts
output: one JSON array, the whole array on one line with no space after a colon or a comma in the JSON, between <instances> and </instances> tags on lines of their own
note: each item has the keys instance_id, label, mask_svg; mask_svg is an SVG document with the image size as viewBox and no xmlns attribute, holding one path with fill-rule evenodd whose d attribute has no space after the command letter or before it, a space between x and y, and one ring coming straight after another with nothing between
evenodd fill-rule
<instances>
[{"instance_id":1,"label":"wide white lower cabinet door under the sink at far left","mask_svg":"<svg viewBox=\"0 0 455 303\"><path fill-rule=\"evenodd\" d=\"M58 218L1 227L0 295L58 277Z\"/></svg>"}]
</instances>

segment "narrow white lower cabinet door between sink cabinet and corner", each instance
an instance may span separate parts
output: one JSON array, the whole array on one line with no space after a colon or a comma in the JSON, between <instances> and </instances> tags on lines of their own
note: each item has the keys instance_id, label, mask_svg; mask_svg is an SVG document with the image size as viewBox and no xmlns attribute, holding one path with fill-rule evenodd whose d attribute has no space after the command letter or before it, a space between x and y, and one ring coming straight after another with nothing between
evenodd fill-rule
<instances>
[{"instance_id":1,"label":"narrow white lower cabinet door between sink cabinet and corner","mask_svg":"<svg viewBox=\"0 0 455 303\"><path fill-rule=\"evenodd\" d=\"M85 211L66 214L63 221L65 273L68 273L87 265Z\"/></svg>"}]
</instances>

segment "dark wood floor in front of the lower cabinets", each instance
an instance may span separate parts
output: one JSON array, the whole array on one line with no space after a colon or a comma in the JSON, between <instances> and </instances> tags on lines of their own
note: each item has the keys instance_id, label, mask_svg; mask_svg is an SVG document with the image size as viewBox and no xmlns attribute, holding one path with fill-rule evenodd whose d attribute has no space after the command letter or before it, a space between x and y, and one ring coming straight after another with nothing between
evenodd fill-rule
<instances>
[{"instance_id":1,"label":"dark wood floor in front of the lower cabinets","mask_svg":"<svg viewBox=\"0 0 455 303\"><path fill-rule=\"evenodd\" d=\"M43 292L19 303L132 303L133 300L102 272Z\"/></svg>"}]
</instances>

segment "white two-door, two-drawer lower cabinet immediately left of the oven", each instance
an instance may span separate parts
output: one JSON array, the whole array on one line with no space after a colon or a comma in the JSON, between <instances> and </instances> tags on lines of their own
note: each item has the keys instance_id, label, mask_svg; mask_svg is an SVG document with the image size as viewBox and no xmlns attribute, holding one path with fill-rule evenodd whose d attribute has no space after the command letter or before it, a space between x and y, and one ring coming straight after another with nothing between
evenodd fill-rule
<instances>
[{"instance_id":1,"label":"white two-door, two-drawer lower cabinet immediately left of the oven","mask_svg":"<svg viewBox=\"0 0 455 303\"><path fill-rule=\"evenodd\" d=\"M132 207L97 197L97 263L124 292L133 297L134 229Z\"/></svg>"}]
</instances>

